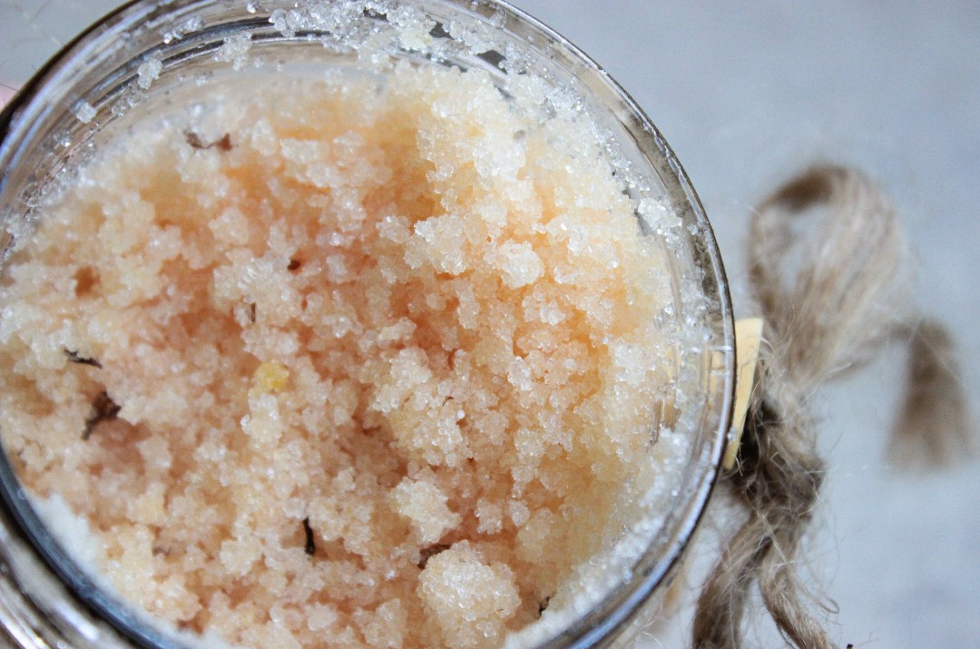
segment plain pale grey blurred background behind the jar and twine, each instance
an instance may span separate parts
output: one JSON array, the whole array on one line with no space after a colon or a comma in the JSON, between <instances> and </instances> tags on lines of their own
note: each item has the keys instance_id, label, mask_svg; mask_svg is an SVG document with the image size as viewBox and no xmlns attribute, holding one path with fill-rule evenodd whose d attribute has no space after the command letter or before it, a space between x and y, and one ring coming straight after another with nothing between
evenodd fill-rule
<instances>
[{"instance_id":1,"label":"plain pale grey blurred background behind the jar and twine","mask_svg":"<svg viewBox=\"0 0 980 649\"><path fill-rule=\"evenodd\" d=\"M0 81L22 82L115 4L0 0ZM916 299L951 325L967 392L980 395L980 2L518 5L589 53L660 126L705 203L739 301L748 214L768 190L812 162L878 179L920 260ZM904 364L895 345L814 396L830 469L809 582L836 603L826 620L841 645L980 647L980 467L889 466ZM720 504L709 531L722 529ZM687 604L645 646L683 646L711 551L700 550ZM782 645L764 622L750 631L761 646Z\"/></svg>"}]
</instances>

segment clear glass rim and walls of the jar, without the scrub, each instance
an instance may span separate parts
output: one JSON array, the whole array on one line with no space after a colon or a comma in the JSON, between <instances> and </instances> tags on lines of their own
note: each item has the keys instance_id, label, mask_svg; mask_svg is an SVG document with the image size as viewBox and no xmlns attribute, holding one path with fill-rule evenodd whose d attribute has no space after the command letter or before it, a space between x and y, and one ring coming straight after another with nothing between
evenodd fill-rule
<instances>
[{"instance_id":1,"label":"clear glass rim and walls of the jar, without the scrub","mask_svg":"<svg viewBox=\"0 0 980 649\"><path fill-rule=\"evenodd\" d=\"M637 215L649 235L670 240L673 254L677 374L695 392L678 392L672 422L691 436L686 468L669 511L627 567L628 576L539 645L625 646L662 605L708 504L731 421L734 329L711 226L657 128L609 75L547 26L491 0L348 4L353 13L344 23L316 2L297 7L285 0L137 0L89 28L0 117L4 248L29 236L35 208L53 179L71 175L106 138L123 136L115 126L127 114L153 97L239 67L233 52L224 55L235 34L250 35L248 65L270 74L284 65L351 65L358 57L349 44L376 39L391 25L396 4L410 5L435 22L431 39L393 39L385 57L478 68L496 79L537 75L562 89L577 102L573 110L588 112L611 135L614 164L627 176L637 204L658 202L676 218L675 226L663 229ZM148 62L157 66L152 84L145 82ZM697 340L685 333L695 321L707 332ZM8 639L30 648L180 645L179 637L144 624L79 568L42 524L2 454L0 490L0 624Z\"/></svg>"}]
</instances>

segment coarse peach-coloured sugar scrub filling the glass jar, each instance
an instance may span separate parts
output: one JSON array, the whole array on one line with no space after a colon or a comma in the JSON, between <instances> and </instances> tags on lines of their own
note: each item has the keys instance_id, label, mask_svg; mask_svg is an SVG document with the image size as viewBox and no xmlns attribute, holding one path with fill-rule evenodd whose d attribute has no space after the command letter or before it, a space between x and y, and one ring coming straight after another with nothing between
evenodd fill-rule
<instances>
[{"instance_id":1,"label":"coarse peach-coloured sugar scrub filling the glass jar","mask_svg":"<svg viewBox=\"0 0 980 649\"><path fill-rule=\"evenodd\" d=\"M193 92L6 263L3 443L48 524L249 647L518 645L594 606L689 444L668 246L599 129L407 63Z\"/></svg>"}]
</instances>

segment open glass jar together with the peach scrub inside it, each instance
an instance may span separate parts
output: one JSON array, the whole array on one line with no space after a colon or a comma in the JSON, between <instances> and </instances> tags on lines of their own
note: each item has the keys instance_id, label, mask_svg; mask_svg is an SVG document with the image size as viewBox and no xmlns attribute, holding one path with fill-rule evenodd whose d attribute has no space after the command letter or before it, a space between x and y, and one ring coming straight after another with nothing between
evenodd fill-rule
<instances>
[{"instance_id":1,"label":"open glass jar together with the peach scrub inside it","mask_svg":"<svg viewBox=\"0 0 980 649\"><path fill-rule=\"evenodd\" d=\"M25 647L614 646L730 424L711 227L494 2L134 2L0 121Z\"/></svg>"}]
</instances>

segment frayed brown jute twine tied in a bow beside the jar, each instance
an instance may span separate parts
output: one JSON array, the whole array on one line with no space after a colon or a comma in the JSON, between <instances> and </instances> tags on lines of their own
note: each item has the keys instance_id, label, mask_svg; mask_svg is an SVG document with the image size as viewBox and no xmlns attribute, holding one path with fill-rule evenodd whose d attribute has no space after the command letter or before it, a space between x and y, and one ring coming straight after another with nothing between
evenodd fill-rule
<instances>
[{"instance_id":1,"label":"frayed brown jute twine tied in a bow beside the jar","mask_svg":"<svg viewBox=\"0 0 980 649\"><path fill-rule=\"evenodd\" d=\"M797 573L825 473L809 414L814 391L909 341L907 398L893 454L941 466L971 450L966 398L946 328L914 321L910 254L896 212L865 175L813 167L763 200L750 231L750 279L765 322L757 384L738 463L724 476L745 518L706 581L697 649L736 649L753 587L801 649L833 647ZM825 616L822 616L825 618Z\"/></svg>"}]
</instances>

